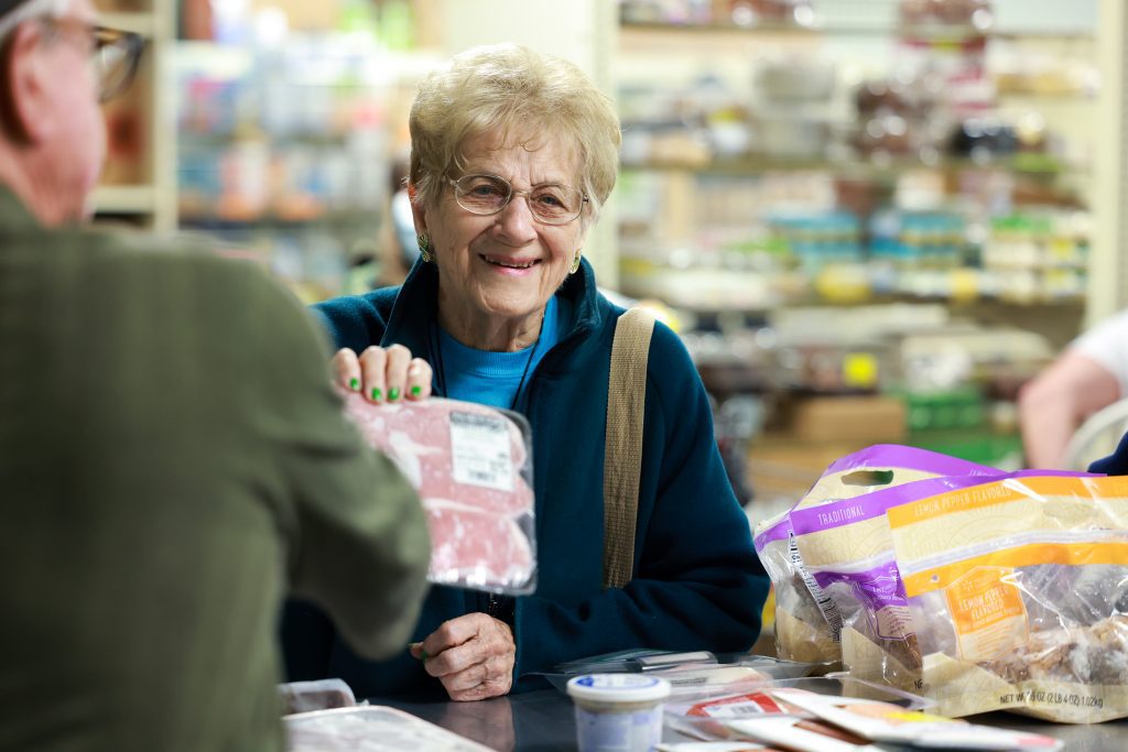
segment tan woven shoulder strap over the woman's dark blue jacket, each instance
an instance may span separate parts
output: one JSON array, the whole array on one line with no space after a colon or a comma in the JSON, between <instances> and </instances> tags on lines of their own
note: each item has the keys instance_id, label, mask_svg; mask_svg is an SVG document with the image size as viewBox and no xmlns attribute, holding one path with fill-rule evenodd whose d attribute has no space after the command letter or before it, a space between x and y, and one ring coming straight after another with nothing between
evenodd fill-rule
<instances>
[{"instance_id":1,"label":"tan woven shoulder strap over the woman's dark blue jacket","mask_svg":"<svg viewBox=\"0 0 1128 752\"><path fill-rule=\"evenodd\" d=\"M646 361L654 317L632 308L619 317L611 342L603 445L603 589L623 587L634 574L634 536L642 474Z\"/></svg>"}]
</instances>

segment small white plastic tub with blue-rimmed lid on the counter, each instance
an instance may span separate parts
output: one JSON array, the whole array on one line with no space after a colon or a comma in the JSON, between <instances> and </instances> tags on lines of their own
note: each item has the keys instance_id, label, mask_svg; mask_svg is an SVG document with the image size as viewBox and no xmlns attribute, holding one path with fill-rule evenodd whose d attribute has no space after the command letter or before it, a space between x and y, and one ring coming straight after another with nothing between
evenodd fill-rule
<instances>
[{"instance_id":1,"label":"small white plastic tub with blue-rimmed lid on the counter","mask_svg":"<svg viewBox=\"0 0 1128 752\"><path fill-rule=\"evenodd\" d=\"M649 752L662 741L662 704L670 682L637 673L571 679L580 752Z\"/></svg>"}]
</instances>

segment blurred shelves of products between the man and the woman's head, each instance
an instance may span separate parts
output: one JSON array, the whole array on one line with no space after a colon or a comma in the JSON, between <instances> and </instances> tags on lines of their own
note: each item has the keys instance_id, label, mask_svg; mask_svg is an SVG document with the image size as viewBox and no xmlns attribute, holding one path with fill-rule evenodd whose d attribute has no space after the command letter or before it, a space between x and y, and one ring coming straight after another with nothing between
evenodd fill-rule
<instances>
[{"instance_id":1,"label":"blurred shelves of products between the man and the woman's head","mask_svg":"<svg viewBox=\"0 0 1128 752\"><path fill-rule=\"evenodd\" d=\"M363 29L182 43L180 227L257 256L306 300L371 286L404 91L432 64Z\"/></svg>"}]
</instances>

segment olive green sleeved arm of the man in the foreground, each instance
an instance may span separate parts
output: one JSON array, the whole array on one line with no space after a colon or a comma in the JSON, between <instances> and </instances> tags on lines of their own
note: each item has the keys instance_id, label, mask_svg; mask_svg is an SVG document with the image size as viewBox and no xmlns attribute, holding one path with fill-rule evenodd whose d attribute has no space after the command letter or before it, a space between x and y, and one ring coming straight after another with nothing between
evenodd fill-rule
<instances>
[{"instance_id":1,"label":"olive green sleeved arm of the man in the foreground","mask_svg":"<svg viewBox=\"0 0 1128 752\"><path fill-rule=\"evenodd\" d=\"M430 540L418 497L382 454L363 445L331 386L317 322L265 280L248 285L248 316L261 348L249 372L264 374L253 436L274 455L290 499L291 591L316 601L365 657L402 651L426 592Z\"/></svg>"}]
</instances>

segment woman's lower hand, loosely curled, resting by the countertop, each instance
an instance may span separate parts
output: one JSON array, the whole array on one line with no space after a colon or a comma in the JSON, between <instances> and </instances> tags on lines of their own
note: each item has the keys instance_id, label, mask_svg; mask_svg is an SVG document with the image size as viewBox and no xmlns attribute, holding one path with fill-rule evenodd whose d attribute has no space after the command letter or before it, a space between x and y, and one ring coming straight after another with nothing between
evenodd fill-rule
<instances>
[{"instance_id":1,"label":"woman's lower hand, loosely curled, resting by the countertop","mask_svg":"<svg viewBox=\"0 0 1128 752\"><path fill-rule=\"evenodd\" d=\"M446 621L422 643L411 646L423 666L439 679L452 700L484 700L509 693L517 645L504 621L467 613Z\"/></svg>"}]
</instances>

